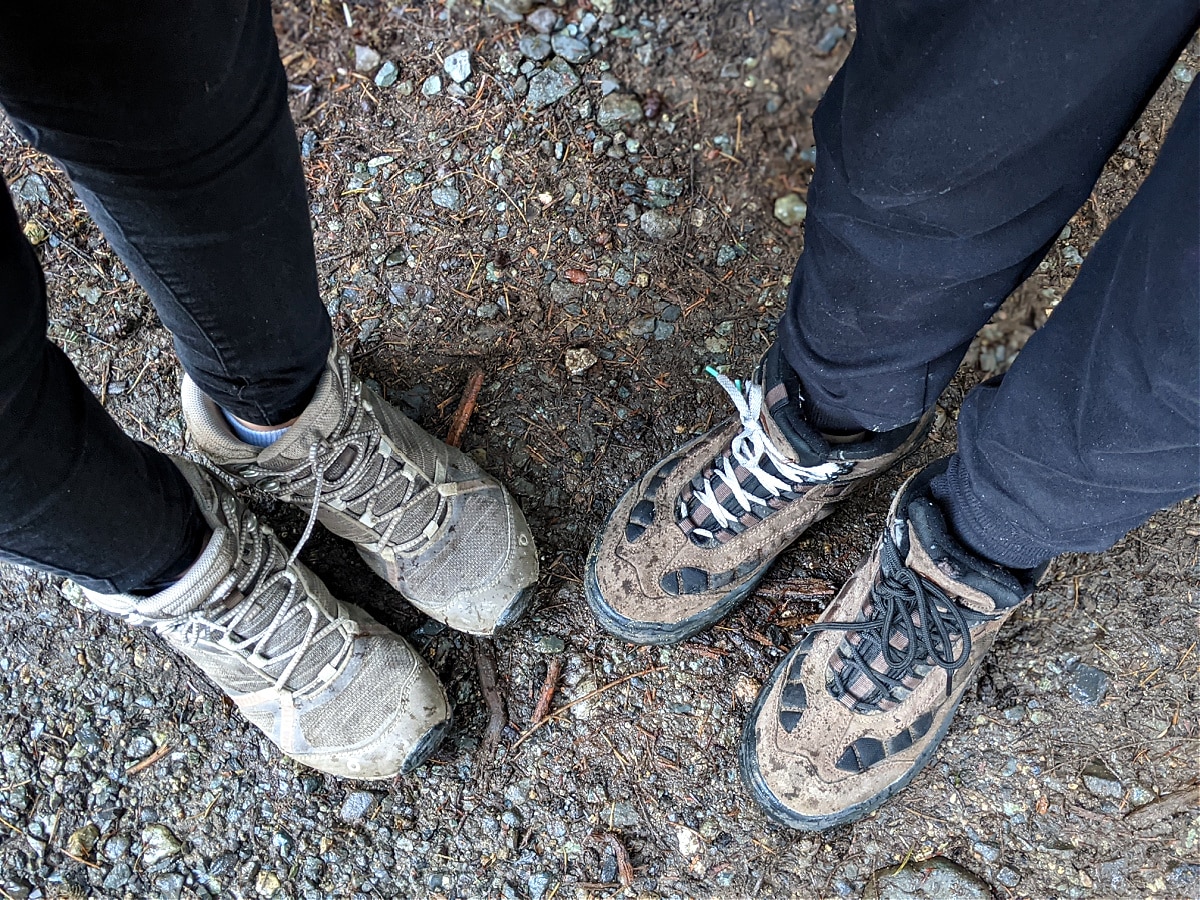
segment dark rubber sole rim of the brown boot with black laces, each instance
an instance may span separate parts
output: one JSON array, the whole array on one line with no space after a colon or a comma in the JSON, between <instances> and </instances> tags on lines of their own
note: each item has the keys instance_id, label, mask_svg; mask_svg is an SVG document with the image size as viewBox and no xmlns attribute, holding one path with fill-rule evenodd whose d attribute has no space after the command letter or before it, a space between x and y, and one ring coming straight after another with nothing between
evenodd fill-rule
<instances>
[{"instance_id":1,"label":"dark rubber sole rim of the brown boot with black laces","mask_svg":"<svg viewBox=\"0 0 1200 900\"><path fill-rule=\"evenodd\" d=\"M791 658L792 654L785 656L784 661L775 667L775 672L782 672L784 667L788 665ZM913 761L912 768L908 769L900 779L893 781L874 797L856 803L852 806L846 806L845 809L830 812L827 816L804 816L786 806L782 800L780 800L775 793L767 787L767 782L762 778L762 772L758 769L758 732L757 728L755 728L755 722L758 721L758 716L762 714L767 695L770 692L774 683L775 679L772 678L770 682L762 686L762 690L758 691L758 697L750 708L750 713L746 715L745 726L743 726L742 730L742 744L738 748L738 769L742 773L742 782L746 786L750 796L754 797L755 802L767 815L767 818L776 824L794 828L800 832L824 832L830 828L838 828L839 826L857 822L864 816L868 816L877 810L895 794L906 788L908 782L917 778L929 761L937 755L937 748L941 746L942 738L944 738L946 732L949 731L950 722L954 721L954 714L958 713L959 703L962 701L962 692L960 692L958 698L954 701L954 704L950 707L950 712L946 716L946 720L938 726L937 731L934 732L934 739L930 742L929 746L922 750L922 752Z\"/></svg>"}]
</instances>

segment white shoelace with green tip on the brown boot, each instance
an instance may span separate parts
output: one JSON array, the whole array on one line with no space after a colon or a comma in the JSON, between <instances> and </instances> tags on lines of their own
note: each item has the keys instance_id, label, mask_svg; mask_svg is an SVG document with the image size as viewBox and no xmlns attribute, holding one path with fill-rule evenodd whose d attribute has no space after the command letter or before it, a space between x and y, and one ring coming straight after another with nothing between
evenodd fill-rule
<instances>
[{"instance_id":1,"label":"white shoelace with green tip on the brown boot","mask_svg":"<svg viewBox=\"0 0 1200 900\"><path fill-rule=\"evenodd\" d=\"M721 460L721 466L714 469L710 476L704 479L703 488L695 491L692 494L700 500L700 508L704 508L712 512L713 518L716 520L716 524L720 528L728 528L739 520L739 516L730 512L716 499L714 490L716 481L724 484L730 490L733 499L737 500L743 511L752 512L755 506L760 506L769 514L773 511L772 505L768 503L769 499L779 497L784 491L791 491L796 485L828 481L841 470L841 466L836 462L823 462L820 466L799 466L788 460L784 455L784 451L775 446L767 432L763 431L762 421L760 420L763 400L761 384L750 382L743 389L742 382L731 382L712 366L704 371L715 378L716 383L730 395L730 400L733 401L733 406L737 407L738 415L742 419L742 432L731 442L730 455ZM730 457L736 461L737 466L740 466L754 475L761 486L763 496L746 491L738 482L734 470L736 466L730 463ZM780 475L791 479L791 481L785 481L766 472L761 464L764 457L774 464L775 470ZM686 518L688 515L688 504L680 499L680 521ZM713 533L707 528L695 528L694 532L702 538L713 536Z\"/></svg>"}]
</instances>

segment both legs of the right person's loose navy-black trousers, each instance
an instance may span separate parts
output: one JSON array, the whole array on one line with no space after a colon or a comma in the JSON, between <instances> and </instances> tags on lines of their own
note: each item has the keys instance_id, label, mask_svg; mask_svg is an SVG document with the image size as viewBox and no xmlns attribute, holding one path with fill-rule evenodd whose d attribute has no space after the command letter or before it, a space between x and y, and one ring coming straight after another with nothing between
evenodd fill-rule
<instances>
[{"instance_id":1,"label":"both legs of the right person's loose navy-black trousers","mask_svg":"<svg viewBox=\"0 0 1200 900\"><path fill-rule=\"evenodd\" d=\"M818 408L883 431L937 400L1198 25L1195 0L859 0L814 119L780 341ZM1200 491L1200 90L934 490L976 551L1110 547Z\"/></svg>"}]
</instances>

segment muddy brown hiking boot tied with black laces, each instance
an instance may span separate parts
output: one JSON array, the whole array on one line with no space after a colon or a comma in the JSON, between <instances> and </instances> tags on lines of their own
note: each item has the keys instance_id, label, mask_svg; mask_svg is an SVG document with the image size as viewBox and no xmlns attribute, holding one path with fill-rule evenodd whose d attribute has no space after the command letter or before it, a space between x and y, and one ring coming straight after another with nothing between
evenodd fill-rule
<instances>
[{"instance_id":1,"label":"muddy brown hiking boot tied with black laces","mask_svg":"<svg viewBox=\"0 0 1200 900\"><path fill-rule=\"evenodd\" d=\"M776 666L746 721L742 778L781 824L853 822L929 762L1001 625L1033 590L948 533L929 482L896 494L875 550Z\"/></svg>"}]
</instances>

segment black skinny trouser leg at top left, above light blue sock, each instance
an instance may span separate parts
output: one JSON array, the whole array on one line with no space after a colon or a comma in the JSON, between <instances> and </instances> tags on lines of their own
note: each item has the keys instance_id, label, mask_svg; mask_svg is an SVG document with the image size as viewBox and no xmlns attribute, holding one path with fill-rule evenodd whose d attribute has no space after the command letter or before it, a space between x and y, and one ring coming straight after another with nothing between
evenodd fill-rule
<instances>
[{"instance_id":1,"label":"black skinny trouser leg at top left, above light blue sock","mask_svg":"<svg viewBox=\"0 0 1200 900\"><path fill-rule=\"evenodd\" d=\"M20 4L0 103L79 196L229 412L299 414L332 334L266 0Z\"/></svg>"}]
</instances>

